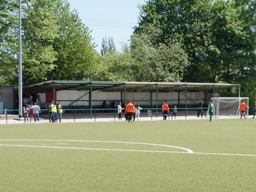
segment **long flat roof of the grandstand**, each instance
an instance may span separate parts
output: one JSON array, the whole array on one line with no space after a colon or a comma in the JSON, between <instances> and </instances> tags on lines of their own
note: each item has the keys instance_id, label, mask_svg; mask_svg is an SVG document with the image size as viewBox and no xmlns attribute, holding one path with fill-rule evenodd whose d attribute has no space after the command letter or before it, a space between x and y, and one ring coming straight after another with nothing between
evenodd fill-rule
<instances>
[{"instance_id":1,"label":"long flat roof of the grandstand","mask_svg":"<svg viewBox=\"0 0 256 192\"><path fill-rule=\"evenodd\" d=\"M240 87L240 84L223 84L223 83L187 83L187 82L114 82L114 81L45 81L24 87L24 89L41 90L55 89L59 90L106 90L122 91L126 90L148 90L155 91L181 91L185 90L212 90Z\"/></svg>"}]
</instances>

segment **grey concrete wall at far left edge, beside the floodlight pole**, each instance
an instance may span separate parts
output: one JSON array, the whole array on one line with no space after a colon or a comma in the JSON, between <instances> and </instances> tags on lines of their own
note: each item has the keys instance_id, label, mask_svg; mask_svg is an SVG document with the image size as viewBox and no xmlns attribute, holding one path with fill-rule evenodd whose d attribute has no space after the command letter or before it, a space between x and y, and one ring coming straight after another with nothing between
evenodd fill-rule
<instances>
[{"instance_id":1,"label":"grey concrete wall at far left edge, beside the floodlight pole","mask_svg":"<svg viewBox=\"0 0 256 192\"><path fill-rule=\"evenodd\" d=\"M13 109L13 87L0 87L0 102L3 109Z\"/></svg>"}]
</instances>

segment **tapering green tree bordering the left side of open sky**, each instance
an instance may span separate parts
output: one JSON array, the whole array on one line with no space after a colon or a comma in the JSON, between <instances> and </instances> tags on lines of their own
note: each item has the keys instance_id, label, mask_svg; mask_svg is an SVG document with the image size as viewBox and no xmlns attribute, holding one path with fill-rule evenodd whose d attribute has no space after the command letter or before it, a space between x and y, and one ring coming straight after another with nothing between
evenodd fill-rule
<instances>
[{"instance_id":1,"label":"tapering green tree bordering the left side of open sky","mask_svg":"<svg viewBox=\"0 0 256 192\"><path fill-rule=\"evenodd\" d=\"M53 42L57 59L48 79L81 80L95 62L90 30L81 22L76 10L70 12L67 0L57 0L54 18L58 26L58 37Z\"/></svg>"}]
</instances>

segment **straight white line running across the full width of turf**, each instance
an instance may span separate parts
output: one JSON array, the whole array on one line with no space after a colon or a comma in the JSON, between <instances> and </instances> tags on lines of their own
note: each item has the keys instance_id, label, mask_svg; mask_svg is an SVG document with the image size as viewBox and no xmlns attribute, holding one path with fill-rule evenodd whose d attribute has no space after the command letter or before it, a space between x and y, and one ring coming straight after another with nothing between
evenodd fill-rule
<instances>
[{"instance_id":1,"label":"straight white line running across the full width of turf","mask_svg":"<svg viewBox=\"0 0 256 192\"><path fill-rule=\"evenodd\" d=\"M155 152L155 153L183 153L183 154L212 154L212 155L233 155L233 156L253 156L255 154L229 154L229 153L197 153L197 152L182 152L182 151L146 151L146 150L131 150L131 149L109 149L109 148L79 148L79 147L54 147L54 146L40 146L40 145L4 145L0 146L15 146L15 147L38 147L38 148L64 148L64 149L87 149L87 150L105 150L105 151L137 151L137 152Z\"/></svg>"}]
</instances>

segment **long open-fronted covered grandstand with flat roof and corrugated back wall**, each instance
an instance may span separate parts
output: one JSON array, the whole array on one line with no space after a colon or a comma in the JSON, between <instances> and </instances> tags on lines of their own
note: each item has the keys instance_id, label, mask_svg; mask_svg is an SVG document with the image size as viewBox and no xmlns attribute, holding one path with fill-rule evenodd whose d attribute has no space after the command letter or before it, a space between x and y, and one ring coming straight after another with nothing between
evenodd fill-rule
<instances>
[{"instance_id":1,"label":"long open-fronted covered grandstand with flat roof and corrugated back wall","mask_svg":"<svg viewBox=\"0 0 256 192\"><path fill-rule=\"evenodd\" d=\"M187 83L187 82L114 82L114 81L45 81L24 87L27 95L45 94L45 101L57 100L67 108L99 108L102 101L126 102L133 100L143 107L161 108L162 102L189 108L218 97L219 90L236 87L240 97L240 84ZM185 110L187 113L187 109Z\"/></svg>"}]
</instances>

